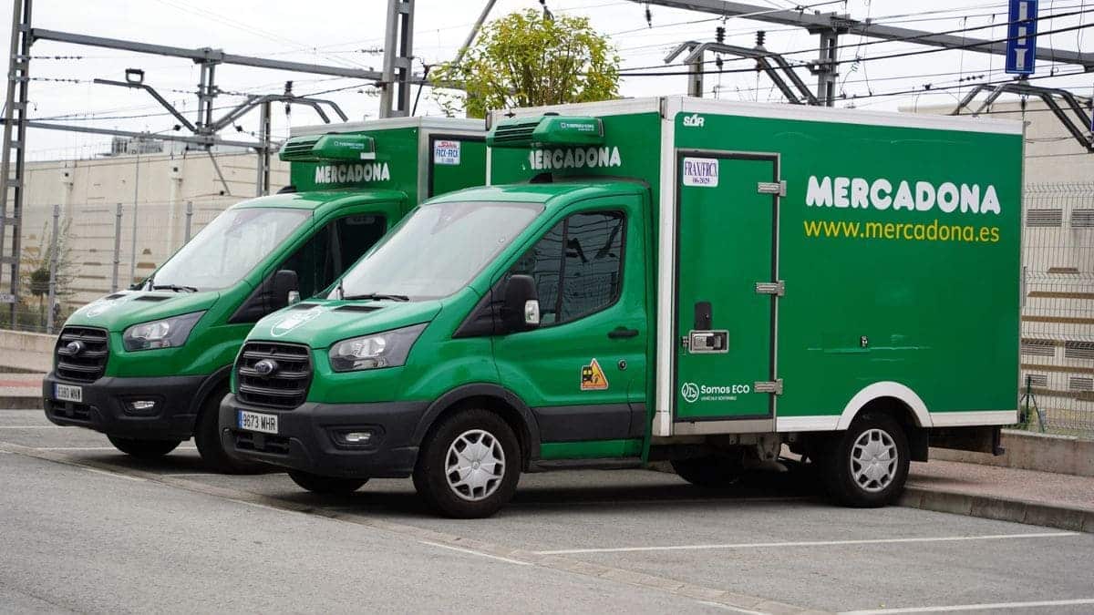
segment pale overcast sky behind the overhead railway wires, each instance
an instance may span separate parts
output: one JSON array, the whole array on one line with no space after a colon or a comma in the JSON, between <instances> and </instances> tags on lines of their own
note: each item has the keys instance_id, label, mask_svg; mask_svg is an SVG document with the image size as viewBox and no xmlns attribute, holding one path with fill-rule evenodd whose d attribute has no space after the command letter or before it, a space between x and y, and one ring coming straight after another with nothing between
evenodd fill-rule
<instances>
[{"instance_id":1,"label":"pale overcast sky behind the overhead railway wires","mask_svg":"<svg viewBox=\"0 0 1094 615\"><path fill-rule=\"evenodd\" d=\"M792 7L789 0L753 0L760 5ZM807 1L805 2L808 3ZM10 1L4 2L4 40L8 40ZM484 2L481 0L418 0L416 14L415 51L426 62L450 59L463 42ZM651 7L652 25L645 22L645 8L625 0L548 0L555 13L589 16L594 27L609 34L622 57L622 66L648 67L662 63L665 53L687 39L712 39L719 21L714 15ZM327 0L325 2L290 2L288 0L37 0L34 24L36 27L81 32L100 36L128 38L183 47L217 47L235 54L269 56L282 59L331 63L341 66L374 67L380 69L382 58L369 53L383 40L384 8L386 0ZM848 0L827 3L812 10L849 13L856 19L872 19L934 32L975 27L1006 21L1006 2L1003 0ZM538 0L500 0L492 16L524 8L539 8ZM1089 9L1091 13L1052 21L1044 21L1041 31L1060 28L1080 23L1094 23L1094 0L1041 0L1040 12L1061 13ZM940 12L941 11L941 12ZM1084 20L1080 22L1080 20ZM698 22L698 23L696 23ZM772 24L730 19L725 23L728 42L752 46L755 31L766 30L767 47L777 51L811 49L816 37L799 28L784 28ZM1002 27L979 30L971 36L1000 38ZM869 40L869 39L865 39ZM927 49L904 43L884 43L858 47L859 37L845 36L841 59L895 54L904 50ZM1054 36L1043 36L1040 46L1060 49L1087 50L1094 43L1094 28ZM126 68L146 70L146 82L160 89L168 100L193 113L196 97L193 92L198 81L197 68L186 60L158 56L141 56L108 49L79 47L42 42L34 46L35 56L81 56L80 59L38 59L32 62L35 78L77 80L34 81L31 83L32 116L38 118L62 116L63 120L81 125L119 128L124 130L161 131L170 129L173 118L162 115L147 94L91 83L94 78L121 79ZM808 60L815 53L794 54L792 60ZM935 86L958 83L961 78L984 76L999 80L1003 58L970 51L942 51L907 58L866 61L859 66L842 65L839 77L840 92L848 95L901 92L920 89L924 83ZM733 61L726 68L744 68L745 62ZM678 69L677 69L678 70ZM814 79L804 69L808 83ZM1038 74L1048 74L1051 67L1040 62ZM1058 66L1059 72L1075 72L1075 67ZM943 74L944 73L944 74ZM293 74L244 67L221 67L218 83L225 91L279 93L286 80L294 81L296 93L312 93L353 85L345 79L322 76ZM1066 86L1090 95L1094 74L1059 77L1039 81L1040 84ZM779 101L778 91L770 82L754 73L708 76L708 95L729 100ZM337 101L353 119L375 117L379 101L368 93L366 84L342 92L325 94ZM622 81L626 96L682 94L686 90L684 77L632 77ZM912 104L952 103L956 91L881 96L854 101L860 107L895 109ZM218 106L237 103L241 98L224 95ZM840 106L846 106L841 101ZM422 94L419 114L437 114L437 106ZM148 117L148 114L156 114ZM244 131L255 130L257 113L240 125ZM57 121L60 121L58 119ZM275 134L286 136L290 123L305 125L318 123L307 108L293 107L291 118L283 109L275 113ZM108 138L36 130L30 139L32 159L88 158L103 151Z\"/></svg>"}]
</instances>

